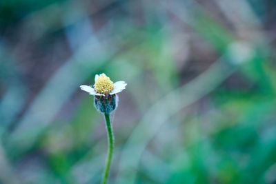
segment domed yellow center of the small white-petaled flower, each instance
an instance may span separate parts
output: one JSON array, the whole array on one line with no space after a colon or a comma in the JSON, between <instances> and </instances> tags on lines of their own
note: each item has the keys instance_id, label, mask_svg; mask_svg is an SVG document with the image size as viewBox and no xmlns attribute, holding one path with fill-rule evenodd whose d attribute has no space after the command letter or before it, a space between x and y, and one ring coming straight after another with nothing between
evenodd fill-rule
<instances>
[{"instance_id":1,"label":"domed yellow center of the small white-petaled flower","mask_svg":"<svg viewBox=\"0 0 276 184\"><path fill-rule=\"evenodd\" d=\"M110 81L108 76L99 76L94 85L94 90L100 94L107 94L114 89L113 82Z\"/></svg>"}]
</instances>

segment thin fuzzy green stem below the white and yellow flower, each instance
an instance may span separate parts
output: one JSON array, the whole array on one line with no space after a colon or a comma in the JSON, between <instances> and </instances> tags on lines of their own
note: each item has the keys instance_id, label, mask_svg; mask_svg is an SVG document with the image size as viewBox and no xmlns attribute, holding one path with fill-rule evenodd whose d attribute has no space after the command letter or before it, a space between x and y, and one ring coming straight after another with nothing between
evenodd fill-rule
<instances>
[{"instance_id":1,"label":"thin fuzzy green stem below the white and yellow flower","mask_svg":"<svg viewBox=\"0 0 276 184\"><path fill-rule=\"evenodd\" d=\"M110 169L110 165L111 165L112 152L113 152L113 147L114 147L113 132L112 132L109 114L104 114L104 117L106 118L106 129L108 132L109 147L108 147L108 156L107 156L107 161L106 161L106 169L104 170L103 181L101 182L102 184L106 184L106 181L108 180L108 173L109 173L109 169Z\"/></svg>"}]
</instances>

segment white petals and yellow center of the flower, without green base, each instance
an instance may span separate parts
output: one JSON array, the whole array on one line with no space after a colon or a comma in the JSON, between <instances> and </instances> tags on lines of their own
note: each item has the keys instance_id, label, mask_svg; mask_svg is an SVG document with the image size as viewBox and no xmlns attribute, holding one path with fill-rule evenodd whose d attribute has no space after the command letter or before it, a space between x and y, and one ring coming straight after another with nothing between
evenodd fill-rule
<instances>
[{"instance_id":1,"label":"white petals and yellow center of the flower, without green base","mask_svg":"<svg viewBox=\"0 0 276 184\"><path fill-rule=\"evenodd\" d=\"M93 85L94 88L89 85L81 85L79 87L81 90L86 91L91 95L106 96L108 94L117 94L126 89L126 82L117 81L116 83L113 83L106 74L96 74L95 84Z\"/></svg>"}]
</instances>

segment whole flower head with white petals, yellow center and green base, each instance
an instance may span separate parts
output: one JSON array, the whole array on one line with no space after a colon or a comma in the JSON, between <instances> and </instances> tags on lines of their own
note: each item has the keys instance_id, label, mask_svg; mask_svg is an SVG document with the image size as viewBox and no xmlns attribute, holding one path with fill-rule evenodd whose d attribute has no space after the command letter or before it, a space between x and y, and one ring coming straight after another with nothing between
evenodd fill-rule
<instances>
[{"instance_id":1,"label":"whole flower head with white petals, yellow center and green base","mask_svg":"<svg viewBox=\"0 0 276 184\"><path fill-rule=\"evenodd\" d=\"M99 112L109 114L117 108L118 96L116 94L126 89L126 82L117 81L113 83L106 74L96 74L94 88L89 85L79 87L95 96L94 105Z\"/></svg>"}]
</instances>

